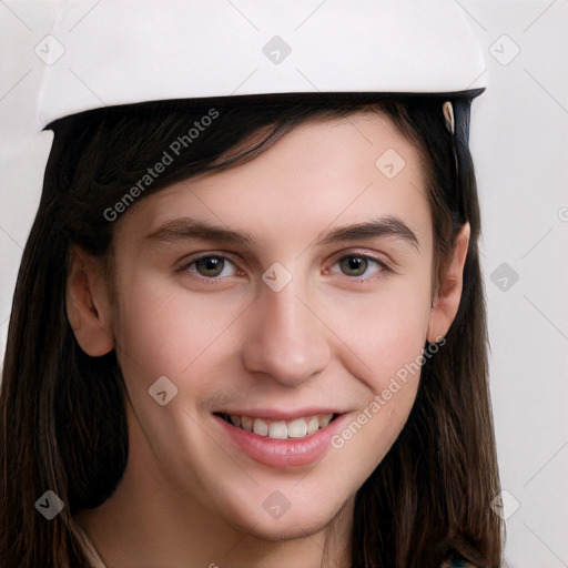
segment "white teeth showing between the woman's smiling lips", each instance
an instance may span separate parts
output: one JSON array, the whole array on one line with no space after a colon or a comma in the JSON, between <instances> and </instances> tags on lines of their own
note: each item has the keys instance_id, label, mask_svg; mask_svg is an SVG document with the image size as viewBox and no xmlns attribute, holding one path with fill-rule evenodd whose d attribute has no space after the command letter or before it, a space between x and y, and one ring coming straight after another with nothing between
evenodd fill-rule
<instances>
[{"instance_id":1,"label":"white teeth showing between the woman's smiling lips","mask_svg":"<svg viewBox=\"0 0 568 568\"><path fill-rule=\"evenodd\" d=\"M229 424L245 432L272 439L298 439L315 434L335 420L339 414L317 414L303 416L293 420L273 420L235 414L215 413Z\"/></svg>"}]
</instances>

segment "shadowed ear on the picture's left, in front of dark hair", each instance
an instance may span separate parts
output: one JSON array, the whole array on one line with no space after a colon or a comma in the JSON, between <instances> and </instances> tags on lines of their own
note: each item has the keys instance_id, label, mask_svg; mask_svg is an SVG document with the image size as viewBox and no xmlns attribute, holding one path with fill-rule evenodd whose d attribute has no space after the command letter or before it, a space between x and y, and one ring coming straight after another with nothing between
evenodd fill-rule
<instances>
[{"instance_id":1,"label":"shadowed ear on the picture's left, in front of dark hair","mask_svg":"<svg viewBox=\"0 0 568 568\"><path fill-rule=\"evenodd\" d=\"M65 291L67 316L77 342L91 357L114 347L108 283L100 261L79 247L71 250Z\"/></svg>"}]
</instances>

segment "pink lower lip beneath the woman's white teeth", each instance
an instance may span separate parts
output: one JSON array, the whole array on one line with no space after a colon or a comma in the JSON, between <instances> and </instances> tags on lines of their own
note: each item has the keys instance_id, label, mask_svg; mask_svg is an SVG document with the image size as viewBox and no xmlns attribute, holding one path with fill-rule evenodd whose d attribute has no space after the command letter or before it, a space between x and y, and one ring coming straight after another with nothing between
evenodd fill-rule
<instances>
[{"instance_id":1,"label":"pink lower lip beneath the woman's white teeth","mask_svg":"<svg viewBox=\"0 0 568 568\"><path fill-rule=\"evenodd\" d=\"M305 466L322 459L331 448L332 437L342 429L348 419L342 414L325 428L320 428L305 438L273 439L260 436L227 423L220 416L214 416L234 444L250 457L271 467Z\"/></svg>"}]
</instances>

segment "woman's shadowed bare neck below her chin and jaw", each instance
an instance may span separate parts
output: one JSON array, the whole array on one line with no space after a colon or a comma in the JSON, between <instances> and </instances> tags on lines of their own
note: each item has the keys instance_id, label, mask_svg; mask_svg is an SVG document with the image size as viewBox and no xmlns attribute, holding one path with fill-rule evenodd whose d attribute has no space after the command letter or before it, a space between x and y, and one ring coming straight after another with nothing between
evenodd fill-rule
<instances>
[{"instance_id":1,"label":"woman's shadowed bare neck below her chin and jaw","mask_svg":"<svg viewBox=\"0 0 568 568\"><path fill-rule=\"evenodd\" d=\"M78 521L109 568L347 568L354 497L315 534L266 540L172 486L130 424L129 462L114 494ZM144 449L145 448L145 449ZM254 527L253 527L254 528Z\"/></svg>"}]
</instances>

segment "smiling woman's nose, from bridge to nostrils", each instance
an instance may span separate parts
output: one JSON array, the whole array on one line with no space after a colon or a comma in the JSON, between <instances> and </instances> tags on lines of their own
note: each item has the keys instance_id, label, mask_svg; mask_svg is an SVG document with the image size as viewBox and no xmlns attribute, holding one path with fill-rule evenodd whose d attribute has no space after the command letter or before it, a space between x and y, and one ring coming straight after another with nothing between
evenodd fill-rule
<instances>
[{"instance_id":1,"label":"smiling woman's nose, from bridge to nostrils","mask_svg":"<svg viewBox=\"0 0 568 568\"><path fill-rule=\"evenodd\" d=\"M325 325L297 296L293 282L280 292L263 286L246 322L242 352L248 372L288 387L321 373L331 359Z\"/></svg>"}]
</instances>

